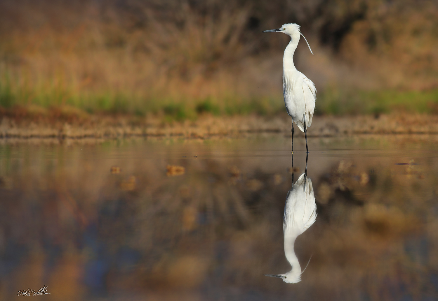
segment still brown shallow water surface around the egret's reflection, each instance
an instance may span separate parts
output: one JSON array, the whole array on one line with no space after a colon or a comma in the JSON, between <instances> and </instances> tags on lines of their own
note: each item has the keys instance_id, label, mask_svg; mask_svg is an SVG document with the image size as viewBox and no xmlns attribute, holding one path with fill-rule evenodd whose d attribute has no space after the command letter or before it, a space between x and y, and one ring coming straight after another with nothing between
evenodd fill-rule
<instances>
[{"instance_id":1,"label":"still brown shallow water surface around the egret's reflection","mask_svg":"<svg viewBox=\"0 0 438 301\"><path fill-rule=\"evenodd\" d=\"M263 276L291 269L290 138L4 140L0 298L437 300L437 140L309 138L318 215L295 241L301 270L311 257L297 284ZM293 159L297 180L304 139Z\"/></svg>"}]
</instances>

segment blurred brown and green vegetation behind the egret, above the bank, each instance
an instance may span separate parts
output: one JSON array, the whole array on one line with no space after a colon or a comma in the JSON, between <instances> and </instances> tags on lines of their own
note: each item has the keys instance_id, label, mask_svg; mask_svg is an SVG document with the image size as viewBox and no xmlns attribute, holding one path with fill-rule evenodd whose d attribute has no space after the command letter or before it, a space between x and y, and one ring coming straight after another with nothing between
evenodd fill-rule
<instances>
[{"instance_id":1,"label":"blurred brown and green vegetation behind the egret, above the bank","mask_svg":"<svg viewBox=\"0 0 438 301\"><path fill-rule=\"evenodd\" d=\"M438 113L436 0L0 0L0 112L276 114L286 35L316 114Z\"/></svg>"}]
</instances>

